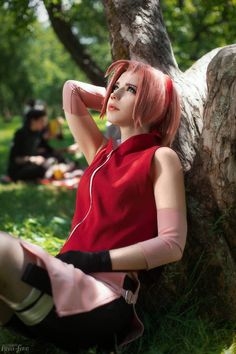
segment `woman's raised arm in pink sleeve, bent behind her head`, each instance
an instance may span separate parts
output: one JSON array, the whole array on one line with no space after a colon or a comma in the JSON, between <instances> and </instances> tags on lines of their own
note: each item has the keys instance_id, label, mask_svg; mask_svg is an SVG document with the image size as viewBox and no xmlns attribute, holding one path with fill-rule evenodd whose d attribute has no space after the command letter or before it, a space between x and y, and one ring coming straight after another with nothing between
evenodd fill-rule
<instances>
[{"instance_id":1,"label":"woman's raised arm in pink sleeve, bent behind her head","mask_svg":"<svg viewBox=\"0 0 236 354\"><path fill-rule=\"evenodd\" d=\"M90 164L107 139L98 129L88 108L100 111L106 90L104 87L80 81L66 81L63 87L63 109L80 150Z\"/></svg>"}]
</instances>

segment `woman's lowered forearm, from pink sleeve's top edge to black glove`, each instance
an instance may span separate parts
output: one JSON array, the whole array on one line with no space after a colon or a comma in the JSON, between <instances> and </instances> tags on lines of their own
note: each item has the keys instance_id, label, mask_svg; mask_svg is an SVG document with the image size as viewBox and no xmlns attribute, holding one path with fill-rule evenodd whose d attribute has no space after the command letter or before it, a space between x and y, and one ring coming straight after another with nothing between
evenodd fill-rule
<instances>
[{"instance_id":1,"label":"woman's lowered forearm, from pink sleeve's top edge to black glove","mask_svg":"<svg viewBox=\"0 0 236 354\"><path fill-rule=\"evenodd\" d=\"M152 269L182 258L186 242L186 213L158 210L158 236L110 251L112 270Z\"/></svg>"}]
</instances>

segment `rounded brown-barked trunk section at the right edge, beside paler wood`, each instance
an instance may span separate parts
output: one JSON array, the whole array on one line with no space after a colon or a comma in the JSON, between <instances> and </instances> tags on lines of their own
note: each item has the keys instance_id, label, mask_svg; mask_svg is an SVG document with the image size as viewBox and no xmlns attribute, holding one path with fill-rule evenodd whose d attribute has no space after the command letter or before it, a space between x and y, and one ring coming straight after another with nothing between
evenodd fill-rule
<instances>
[{"instance_id":1,"label":"rounded brown-barked trunk section at the right edge, beside paler wood","mask_svg":"<svg viewBox=\"0 0 236 354\"><path fill-rule=\"evenodd\" d=\"M228 46L213 58L207 79L202 160L217 205L224 211L221 223L236 262L236 45Z\"/></svg>"}]
</instances>

